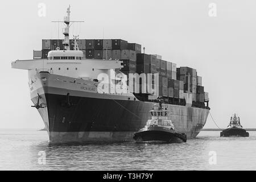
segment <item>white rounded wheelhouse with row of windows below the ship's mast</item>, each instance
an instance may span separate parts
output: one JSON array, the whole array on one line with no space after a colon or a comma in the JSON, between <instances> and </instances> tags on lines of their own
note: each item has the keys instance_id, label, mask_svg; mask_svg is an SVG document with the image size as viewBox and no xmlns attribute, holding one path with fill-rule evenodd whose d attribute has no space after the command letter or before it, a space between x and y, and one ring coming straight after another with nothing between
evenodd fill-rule
<instances>
[{"instance_id":1,"label":"white rounded wheelhouse with row of windows below the ship's mast","mask_svg":"<svg viewBox=\"0 0 256 182\"><path fill-rule=\"evenodd\" d=\"M48 60L81 60L82 57L82 51L76 50L49 51L48 53Z\"/></svg>"}]
</instances>

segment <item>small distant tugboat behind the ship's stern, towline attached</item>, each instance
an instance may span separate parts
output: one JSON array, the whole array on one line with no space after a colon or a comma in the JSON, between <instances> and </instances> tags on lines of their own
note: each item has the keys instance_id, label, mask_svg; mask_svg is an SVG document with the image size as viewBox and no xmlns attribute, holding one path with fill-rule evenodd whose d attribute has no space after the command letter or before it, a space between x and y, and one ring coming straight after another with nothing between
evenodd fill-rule
<instances>
[{"instance_id":1,"label":"small distant tugboat behind the ship's stern, towline attached","mask_svg":"<svg viewBox=\"0 0 256 182\"><path fill-rule=\"evenodd\" d=\"M220 137L249 137L249 133L243 129L240 117L234 114L230 119L228 128L220 133Z\"/></svg>"}]
</instances>

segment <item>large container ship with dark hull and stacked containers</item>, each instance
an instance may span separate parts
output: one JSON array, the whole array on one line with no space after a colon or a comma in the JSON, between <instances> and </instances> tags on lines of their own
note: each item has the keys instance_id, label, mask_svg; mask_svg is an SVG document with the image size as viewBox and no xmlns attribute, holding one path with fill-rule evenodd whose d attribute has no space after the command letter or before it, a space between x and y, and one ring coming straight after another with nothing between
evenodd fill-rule
<instances>
[{"instance_id":1,"label":"large container ship with dark hull and stacked containers","mask_svg":"<svg viewBox=\"0 0 256 182\"><path fill-rule=\"evenodd\" d=\"M69 6L63 40L43 39L42 51L34 51L33 59L11 63L12 68L28 71L32 107L43 119L49 143L133 140L135 131L146 125L156 94L141 92L141 82L134 85L139 92L100 92L98 76L108 75L112 85L106 88L112 89L117 82L111 79L113 72L156 75L154 89L175 129L187 138L200 133L210 108L196 69L177 68L122 39L69 39L70 13Z\"/></svg>"}]
</instances>

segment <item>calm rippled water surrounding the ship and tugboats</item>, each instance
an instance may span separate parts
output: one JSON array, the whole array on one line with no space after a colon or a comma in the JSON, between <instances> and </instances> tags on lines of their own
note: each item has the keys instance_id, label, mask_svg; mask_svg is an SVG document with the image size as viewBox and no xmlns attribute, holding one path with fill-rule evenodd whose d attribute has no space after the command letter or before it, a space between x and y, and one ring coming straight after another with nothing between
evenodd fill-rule
<instances>
[{"instance_id":1,"label":"calm rippled water surrounding the ship and tugboats","mask_svg":"<svg viewBox=\"0 0 256 182\"><path fill-rule=\"evenodd\" d=\"M181 144L49 146L46 131L0 130L0 170L256 170L256 131L249 133L220 138L219 131L202 131ZM39 164L40 151L45 164ZM210 151L216 164L209 164Z\"/></svg>"}]
</instances>

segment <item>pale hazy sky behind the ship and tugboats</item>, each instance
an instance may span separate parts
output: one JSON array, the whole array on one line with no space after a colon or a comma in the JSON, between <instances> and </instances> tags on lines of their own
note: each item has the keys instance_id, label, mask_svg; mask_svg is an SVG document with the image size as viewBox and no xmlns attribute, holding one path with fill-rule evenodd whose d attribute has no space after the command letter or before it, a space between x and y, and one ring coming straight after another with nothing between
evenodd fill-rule
<instances>
[{"instance_id":1,"label":"pale hazy sky behind the ship and tugboats","mask_svg":"<svg viewBox=\"0 0 256 182\"><path fill-rule=\"evenodd\" d=\"M46 16L38 15L45 3ZM209 16L215 3L217 16ZM238 113L243 127L256 128L255 0L93 0L5 1L1 3L0 128L42 128L30 107L27 71L11 69L11 61L32 59L42 39L63 38L57 23L71 4L71 34L80 39L125 39L142 44L146 53L162 55L177 67L197 69L209 92L212 113L220 127ZM60 28L62 25L60 26ZM210 116L205 128L216 128Z\"/></svg>"}]
</instances>

